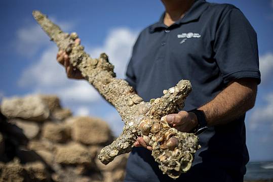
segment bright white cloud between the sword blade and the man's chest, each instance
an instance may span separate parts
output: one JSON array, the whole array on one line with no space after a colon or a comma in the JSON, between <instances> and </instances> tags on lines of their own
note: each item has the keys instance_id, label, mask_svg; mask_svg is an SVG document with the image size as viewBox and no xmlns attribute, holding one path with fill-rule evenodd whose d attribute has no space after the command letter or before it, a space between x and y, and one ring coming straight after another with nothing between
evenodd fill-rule
<instances>
[{"instance_id":1,"label":"bright white cloud between the sword blade and the man's chest","mask_svg":"<svg viewBox=\"0 0 273 182\"><path fill-rule=\"evenodd\" d=\"M126 66L137 35L136 31L129 28L114 28L106 36L102 47L88 49L88 53L91 57L99 57L100 53L106 53L110 63L114 65L116 76L125 78Z\"/></svg>"}]
</instances>

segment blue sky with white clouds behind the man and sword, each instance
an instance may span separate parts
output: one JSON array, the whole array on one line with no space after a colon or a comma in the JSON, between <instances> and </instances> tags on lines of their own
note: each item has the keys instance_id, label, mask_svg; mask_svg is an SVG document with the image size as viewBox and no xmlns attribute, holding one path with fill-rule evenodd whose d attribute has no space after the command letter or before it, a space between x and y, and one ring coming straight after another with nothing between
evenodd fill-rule
<instances>
[{"instance_id":1,"label":"blue sky with white clouds behind the man and sword","mask_svg":"<svg viewBox=\"0 0 273 182\"><path fill-rule=\"evenodd\" d=\"M245 14L258 35L262 83L256 106L247 113L247 146L251 161L273 161L273 1L211 0L229 3ZM123 122L85 81L68 80L56 63L56 45L31 16L47 14L61 28L76 31L86 51L106 52L118 77L124 78L138 33L158 21L164 11L159 0L120 1L0 1L0 99L28 94L56 94L74 115L101 117L118 134Z\"/></svg>"}]
</instances>

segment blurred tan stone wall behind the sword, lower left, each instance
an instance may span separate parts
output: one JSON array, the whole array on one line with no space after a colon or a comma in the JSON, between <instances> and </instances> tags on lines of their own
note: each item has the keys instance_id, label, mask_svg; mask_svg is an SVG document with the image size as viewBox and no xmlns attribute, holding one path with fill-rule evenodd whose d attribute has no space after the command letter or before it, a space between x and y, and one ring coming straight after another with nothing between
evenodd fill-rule
<instances>
[{"instance_id":1,"label":"blurred tan stone wall behind the sword, lower left","mask_svg":"<svg viewBox=\"0 0 273 182\"><path fill-rule=\"evenodd\" d=\"M107 166L97 159L113 139L105 121L73 117L56 96L5 98L0 181L122 181L128 155Z\"/></svg>"}]
</instances>

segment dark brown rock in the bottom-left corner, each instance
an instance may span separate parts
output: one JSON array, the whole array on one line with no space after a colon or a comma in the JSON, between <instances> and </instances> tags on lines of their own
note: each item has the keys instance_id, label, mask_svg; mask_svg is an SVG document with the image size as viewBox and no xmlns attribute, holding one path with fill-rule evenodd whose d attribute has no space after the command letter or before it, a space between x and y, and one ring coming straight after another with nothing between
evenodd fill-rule
<instances>
[{"instance_id":1,"label":"dark brown rock in the bottom-left corner","mask_svg":"<svg viewBox=\"0 0 273 182\"><path fill-rule=\"evenodd\" d=\"M27 171L18 162L2 164L2 175L0 181L30 181Z\"/></svg>"}]
</instances>

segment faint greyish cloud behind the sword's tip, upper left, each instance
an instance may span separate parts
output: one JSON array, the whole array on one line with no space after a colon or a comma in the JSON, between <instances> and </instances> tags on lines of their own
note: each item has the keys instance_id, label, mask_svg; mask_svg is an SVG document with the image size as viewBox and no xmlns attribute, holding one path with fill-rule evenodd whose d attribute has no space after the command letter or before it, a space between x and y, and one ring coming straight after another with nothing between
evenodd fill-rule
<instances>
[{"instance_id":1,"label":"faint greyish cloud behind the sword's tip, upper left","mask_svg":"<svg viewBox=\"0 0 273 182\"><path fill-rule=\"evenodd\" d=\"M73 27L73 23L59 22L56 21L55 18L51 19L65 31ZM19 28L16 31L15 37L13 45L15 46L17 53L26 57L33 56L43 46L50 44L47 34L42 30L40 25L34 23Z\"/></svg>"}]
</instances>

